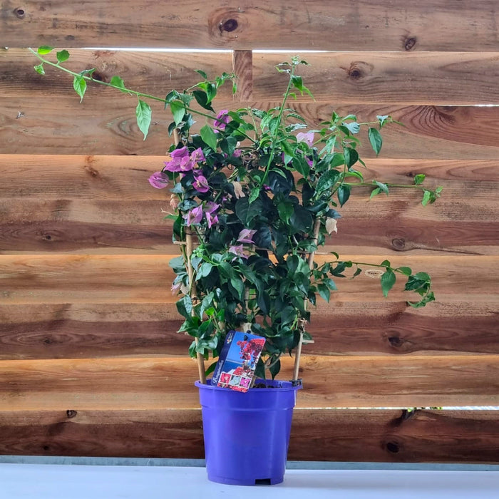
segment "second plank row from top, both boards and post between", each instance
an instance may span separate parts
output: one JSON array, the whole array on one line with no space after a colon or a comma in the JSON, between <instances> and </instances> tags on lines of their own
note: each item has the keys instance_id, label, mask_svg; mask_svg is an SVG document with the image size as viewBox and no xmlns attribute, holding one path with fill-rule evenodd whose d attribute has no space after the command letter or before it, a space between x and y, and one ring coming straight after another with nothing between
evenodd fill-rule
<instances>
[{"instance_id":1,"label":"second plank row from top, both boards and post between","mask_svg":"<svg viewBox=\"0 0 499 499\"><path fill-rule=\"evenodd\" d=\"M109 83L118 74L128 88L164 97L173 88L182 91L198 81L195 70L210 78L232 73L230 53L137 52L71 49L64 67L79 73L95 68L94 78ZM236 51L234 72L239 77L237 101L278 101L287 76L275 66L289 60L287 54ZM56 61L55 53L46 56ZM475 105L498 104L499 53L474 52L326 52L304 54L309 66L298 73L317 102ZM0 91L9 98L39 99L73 96L71 76L46 66L44 76L34 71L38 59L27 49L0 51ZM220 98L230 98L230 85L222 86ZM94 99L105 106L115 89L97 87ZM300 102L312 102L307 93Z\"/></svg>"}]
</instances>

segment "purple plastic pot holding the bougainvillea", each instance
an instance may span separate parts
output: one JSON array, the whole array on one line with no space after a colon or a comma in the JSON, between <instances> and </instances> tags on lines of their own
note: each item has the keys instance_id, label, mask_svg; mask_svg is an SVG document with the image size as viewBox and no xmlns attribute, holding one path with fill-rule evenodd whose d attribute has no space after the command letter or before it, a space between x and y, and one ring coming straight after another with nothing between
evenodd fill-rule
<instances>
[{"instance_id":1,"label":"purple plastic pot holding the bougainvillea","mask_svg":"<svg viewBox=\"0 0 499 499\"><path fill-rule=\"evenodd\" d=\"M208 480L230 485L281 483L293 408L302 387L263 381L275 388L241 393L210 382L195 383L200 389Z\"/></svg>"}]
</instances>

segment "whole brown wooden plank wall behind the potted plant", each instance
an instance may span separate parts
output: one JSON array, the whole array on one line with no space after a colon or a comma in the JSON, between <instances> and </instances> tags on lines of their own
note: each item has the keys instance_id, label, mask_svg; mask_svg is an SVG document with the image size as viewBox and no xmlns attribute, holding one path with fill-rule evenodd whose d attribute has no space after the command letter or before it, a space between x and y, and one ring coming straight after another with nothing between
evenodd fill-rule
<instances>
[{"instance_id":1,"label":"whole brown wooden plank wall behind the potted plant","mask_svg":"<svg viewBox=\"0 0 499 499\"><path fill-rule=\"evenodd\" d=\"M345 206L328 248L428 270L438 301L411 309L399 289L384 299L378 282L359 277L319 304L289 458L499 463L497 411L375 409L499 406L497 2L241 5L1 4L0 453L203 454L190 340L175 333L168 259L177 250L165 193L147 182L169 117L153 106L143 141L133 99L93 87L79 103L68 78L39 76L21 47L71 48L68 67L95 67L104 81L118 73L160 96L195 83L196 68L235 68L237 98L251 106L279 101L273 66L286 58L251 50L287 48L336 51L302 53L316 100L296 106L310 120L336 109L403 122L386 129L381 158L364 149L369 178L425 173L444 187L429 207L407 192ZM222 93L218 108L235 104Z\"/></svg>"}]
</instances>

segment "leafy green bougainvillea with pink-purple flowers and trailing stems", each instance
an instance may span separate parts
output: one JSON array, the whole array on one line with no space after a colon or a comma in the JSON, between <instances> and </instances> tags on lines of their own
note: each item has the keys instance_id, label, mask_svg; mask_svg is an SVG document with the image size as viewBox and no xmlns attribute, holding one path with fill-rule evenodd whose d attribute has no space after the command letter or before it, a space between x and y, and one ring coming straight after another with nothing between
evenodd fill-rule
<instances>
[{"instance_id":1,"label":"leafy green bougainvillea with pink-purple flowers and trailing stems","mask_svg":"<svg viewBox=\"0 0 499 499\"><path fill-rule=\"evenodd\" d=\"M264 377L267 368L276 376L279 358L309 338L310 306L317 297L329 302L339 278L356 277L366 266L381 269L384 296L402 277L405 289L416 296L408 302L411 307L433 301L426 272L394 267L388 260L376 265L346 261L335 252L325 262L314 259L336 232L339 210L353 190L371 187L373 197L394 187L364 181L359 165L365 165L358 152L359 132L366 128L379 154L380 130L394 122L391 116L359 123L356 115L332 113L318 126L307 124L288 103L295 92L310 93L297 74L299 66L307 64L299 58L277 66L284 82L279 106L217 112L217 89L234 83L234 75L210 79L197 71L200 83L158 98L126 88L119 76L106 83L93 78L93 69L74 73L62 66L68 51L57 52L57 61L51 62L46 58L51 50L33 51L39 59L35 70L43 74L44 66L55 66L71 73L81 99L87 82L137 96L137 123L144 138L151 123L148 99L163 101L172 113L168 132L175 140L149 182L164 189L170 201L167 218L173 220L173 238L181 248L181 255L170 262L176 275L173 289L185 319L180 331L195 338L191 356L215 359L226 331L250 330L267 339L257 375ZM191 131L195 118L205 121L200 133ZM441 187L423 187L423 180L424 175L416 175L412 185L397 187L421 190L426 205L436 200Z\"/></svg>"}]
</instances>

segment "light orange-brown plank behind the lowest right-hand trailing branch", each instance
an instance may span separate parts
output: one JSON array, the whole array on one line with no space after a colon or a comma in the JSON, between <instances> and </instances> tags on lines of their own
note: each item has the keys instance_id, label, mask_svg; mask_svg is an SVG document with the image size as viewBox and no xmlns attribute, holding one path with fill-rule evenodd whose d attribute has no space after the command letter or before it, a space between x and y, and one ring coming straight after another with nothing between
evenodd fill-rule
<instances>
[{"instance_id":1,"label":"light orange-brown plank behind the lowest right-hand trailing branch","mask_svg":"<svg viewBox=\"0 0 499 499\"><path fill-rule=\"evenodd\" d=\"M381 255L341 257L368 264L382 261ZM0 304L173 303L176 297L170 283L174 274L168 266L169 259L167 255L155 254L0 255ZM326 260L325 256L317 257L319 263ZM431 274L435 293L442 299L474 303L490 302L497 297L497 277L491 269L497 268L498 261L499 257L469 255L391 257L394 266ZM402 281L384 299L379 279L361 274L356 279L337 280L339 292L333 294L333 301L401 302L414 298L403 292Z\"/></svg>"}]
</instances>

